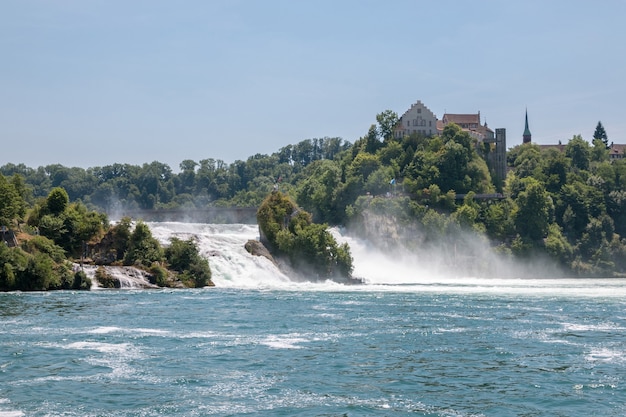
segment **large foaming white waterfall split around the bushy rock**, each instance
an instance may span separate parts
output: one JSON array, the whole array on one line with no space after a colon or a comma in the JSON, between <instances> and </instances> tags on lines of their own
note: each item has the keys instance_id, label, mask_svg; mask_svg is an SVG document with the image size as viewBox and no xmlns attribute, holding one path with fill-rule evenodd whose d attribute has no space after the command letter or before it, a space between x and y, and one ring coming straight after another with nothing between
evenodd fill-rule
<instances>
[{"instance_id":1,"label":"large foaming white waterfall split around the bushy rock","mask_svg":"<svg viewBox=\"0 0 626 417\"><path fill-rule=\"evenodd\" d=\"M284 275L269 260L249 254L244 244L258 239L258 227L246 224L198 224L178 222L148 223L154 237L169 244L170 237L195 237L203 256L207 257L213 281L222 288L314 289L346 288L334 282L298 283ZM576 297L626 297L623 279L562 279L537 276L534 279L481 278L443 273L441 259L428 256L398 257L372 249L367 243L332 230L340 242L350 245L354 258L355 277L364 279L363 286L349 286L356 291L408 291L485 294L536 294Z\"/></svg>"}]
</instances>

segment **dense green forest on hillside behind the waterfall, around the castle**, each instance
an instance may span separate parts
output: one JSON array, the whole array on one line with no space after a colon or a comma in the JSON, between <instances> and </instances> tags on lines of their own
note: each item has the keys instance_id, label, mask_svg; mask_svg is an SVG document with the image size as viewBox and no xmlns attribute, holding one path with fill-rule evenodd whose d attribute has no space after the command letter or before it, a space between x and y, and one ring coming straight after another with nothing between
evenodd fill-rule
<instances>
[{"instance_id":1,"label":"dense green forest on hillside behind the waterfall, around the castle","mask_svg":"<svg viewBox=\"0 0 626 417\"><path fill-rule=\"evenodd\" d=\"M367 233L359 224L378 213L410 231L409 245L454 241L456 249L463 233L468 245L476 239L505 256L547 257L569 275L624 275L626 161L610 161L604 140L590 144L574 136L563 150L516 146L507 153L507 177L496 178L486 162L490 145L458 126L446 126L440 136L397 139L397 120L394 112L380 113L353 144L308 139L231 164L185 160L178 172L160 162L88 169L7 164L0 167L0 187L19 201L4 199L0 220L41 222L42 199L56 188L80 210L113 213L258 207L278 187L319 223ZM484 194L497 197L477 197Z\"/></svg>"}]
</instances>

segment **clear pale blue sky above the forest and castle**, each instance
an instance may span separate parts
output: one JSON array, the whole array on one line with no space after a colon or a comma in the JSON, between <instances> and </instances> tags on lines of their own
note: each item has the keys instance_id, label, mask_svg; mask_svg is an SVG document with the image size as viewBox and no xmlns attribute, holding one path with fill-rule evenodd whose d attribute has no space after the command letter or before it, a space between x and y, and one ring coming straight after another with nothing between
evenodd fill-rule
<instances>
[{"instance_id":1,"label":"clear pale blue sky above the forest and castle","mask_svg":"<svg viewBox=\"0 0 626 417\"><path fill-rule=\"evenodd\" d=\"M626 143L626 0L0 1L0 165L232 163L417 100Z\"/></svg>"}]
</instances>

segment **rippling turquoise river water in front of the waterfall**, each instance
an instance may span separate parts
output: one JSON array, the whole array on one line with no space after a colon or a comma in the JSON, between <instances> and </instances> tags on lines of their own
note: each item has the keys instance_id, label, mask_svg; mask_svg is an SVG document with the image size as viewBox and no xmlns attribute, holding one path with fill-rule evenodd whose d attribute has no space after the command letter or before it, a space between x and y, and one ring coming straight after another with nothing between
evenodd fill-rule
<instances>
[{"instance_id":1,"label":"rippling turquoise river water in front of the waterfall","mask_svg":"<svg viewBox=\"0 0 626 417\"><path fill-rule=\"evenodd\" d=\"M625 287L0 294L0 416L623 416Z\"/></svg>"}]
</instances>

